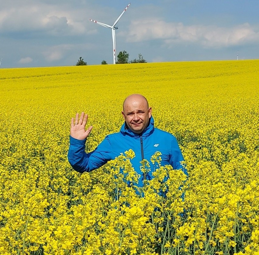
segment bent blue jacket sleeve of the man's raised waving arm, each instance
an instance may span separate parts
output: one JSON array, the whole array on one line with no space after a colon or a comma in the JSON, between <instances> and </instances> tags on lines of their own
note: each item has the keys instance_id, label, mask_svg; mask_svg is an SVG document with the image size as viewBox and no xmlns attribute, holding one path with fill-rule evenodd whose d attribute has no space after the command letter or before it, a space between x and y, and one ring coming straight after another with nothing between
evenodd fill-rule
<instances>
[{"instance_id":1,"label":"bent blue jacket sleeve of the man's raised waving arm","mask_svg":"<svg viewBox=\"0 0 259 255\"><path fill-rule=\"evenodd\" d=\"M112 159L110 153L111 145L108 136L90 153L85 152L85 142L86 139L78 140L70 136L67 158L70 165L77 172L90 172Z\"/></svg>"}]
</instances>

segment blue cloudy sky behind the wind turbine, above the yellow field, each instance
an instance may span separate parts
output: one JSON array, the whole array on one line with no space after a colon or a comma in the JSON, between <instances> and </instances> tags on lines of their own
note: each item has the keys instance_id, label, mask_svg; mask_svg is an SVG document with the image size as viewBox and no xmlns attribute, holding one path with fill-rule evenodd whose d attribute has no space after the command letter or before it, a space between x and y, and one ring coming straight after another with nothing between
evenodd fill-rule
<instances>
[{"instance_id":1,"label":"blue cloudy sky behind the wind turbine, above the yellow field","mask_svg":"<svg viewBox=\"0 0 259 255\"><path fill-rule=\"evenodd\" d=\"M1 68L112 63L117 54L147 62L259 59L258 0L0 0Z\"/></svg>"}]
</instances>

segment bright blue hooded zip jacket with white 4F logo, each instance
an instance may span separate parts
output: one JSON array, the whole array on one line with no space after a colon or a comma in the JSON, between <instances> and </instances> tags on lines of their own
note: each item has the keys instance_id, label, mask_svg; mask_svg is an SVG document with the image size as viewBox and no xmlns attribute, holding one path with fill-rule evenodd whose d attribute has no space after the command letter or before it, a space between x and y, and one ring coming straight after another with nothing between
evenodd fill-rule
<instances>
[{"instance_id":1,"label":"bright blue hooded zip jacket with white 4F logo","mask_svg":"<svg viewBox=\"0 0 259 255\"><path fill-rule=\"evenodd\" d=\"M171 165L174 169L180 169L188 176L185 168L180 165L180 161L184 160L181 150L178 146L176 138L161 129L154 127L154 119L151 116L149 125L145 128L142 134L136 134L131 131L124 123L120 132L109 134L90 152L85 152L85 140L78 140L70 136L70 147L68 150L68 161L74 170L82 172L90 172L107 163L107 161L119 156L121 152L132 149L135 152L135 157L131 163L135 171L141 175L139 185L143 186L143 173L140 171L140 161L147 159L150 162L150 157L160 151L161 165ZM152 163L150 162L151 171L146 178L152 178Z\"/></svg>"}]
</instances>

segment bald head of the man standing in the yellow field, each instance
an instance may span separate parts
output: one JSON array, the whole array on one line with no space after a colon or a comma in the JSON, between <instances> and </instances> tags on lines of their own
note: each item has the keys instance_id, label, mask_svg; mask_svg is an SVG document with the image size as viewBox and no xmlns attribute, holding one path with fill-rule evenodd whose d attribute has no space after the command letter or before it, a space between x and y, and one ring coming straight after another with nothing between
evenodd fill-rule
<instances>
[{"instance_id":1,"label":"bald head of the man standing in the yellow field","mask_svg":"<svg viewBox=\"0 0 259 255\"><path fill-rule=\"evenodd\" d=\"M152 108L140 94L132 94L124 100L122 115L131 131L141 134L148 126Z\"/></svg>"}]
</instances>

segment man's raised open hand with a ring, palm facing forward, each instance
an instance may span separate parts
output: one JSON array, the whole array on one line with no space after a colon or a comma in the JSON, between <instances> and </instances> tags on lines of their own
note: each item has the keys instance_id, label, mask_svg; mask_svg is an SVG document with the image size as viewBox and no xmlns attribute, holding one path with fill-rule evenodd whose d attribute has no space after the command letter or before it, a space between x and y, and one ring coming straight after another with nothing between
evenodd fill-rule
<instances>
[{"instance_id":1,"label":"man's raised open hand with a ring, palm facing forward","mask_svg":"<svg viewBox=\"0 0 259 255\"><path fill-rule=\"evenodd\" d=\"M90 126L88 127L87 130L85 130L88 114L85 114L84 112L82 112L79 120L78 118L79 118L79 113L76 114L75 120L74 118L71 119L70 135L75 139L84 140L90 134L93 126Z\"/></svg>"}]
</instances>

